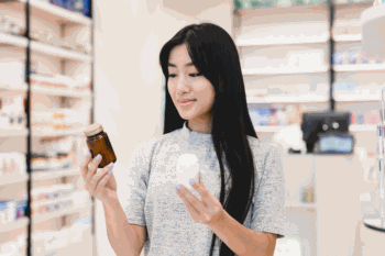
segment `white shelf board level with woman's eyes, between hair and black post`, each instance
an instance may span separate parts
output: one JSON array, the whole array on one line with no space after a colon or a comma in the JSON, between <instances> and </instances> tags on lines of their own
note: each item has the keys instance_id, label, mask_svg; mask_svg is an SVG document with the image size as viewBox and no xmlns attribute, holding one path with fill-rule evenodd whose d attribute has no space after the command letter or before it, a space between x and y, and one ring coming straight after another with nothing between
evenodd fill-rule
<instances>
[{"instance_id":1,"label":"white shelf board level with woman's eyes, between hair and black post","mask_svg":"<svg viewBox=\"0 0 385 256\"><path fill-rule=\"evenodd\" d=\"M312 67L312 68L296 68L296 67L280 67L280 68L253 68L242 69L244 76L276 76L276 75L294 75L294 74L322 74L329 70L328 66Z\"/></svg>"}]
</instances>

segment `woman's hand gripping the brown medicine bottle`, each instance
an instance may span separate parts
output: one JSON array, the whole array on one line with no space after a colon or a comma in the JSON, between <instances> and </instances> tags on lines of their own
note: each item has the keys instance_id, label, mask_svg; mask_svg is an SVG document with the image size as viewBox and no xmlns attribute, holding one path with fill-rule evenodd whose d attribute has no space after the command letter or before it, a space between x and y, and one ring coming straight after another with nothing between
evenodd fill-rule
<instances>
[{"instance_id":1,"label":"woman's hand gripping the brown medicine bottle","mask_svg":"<svg viewBox=\"0 0 385 256\"><path fill-rule=\"evenodd\" d=\"M100 156L99 159L98 157L92 159L92 155L88 154L80 165L80 171L85 181L85 189L101 202L110 204L118 200L117 180L112 174L113 165L111 165L113 163L97 171L101 158Z\"/></svg>"}]
</instances>

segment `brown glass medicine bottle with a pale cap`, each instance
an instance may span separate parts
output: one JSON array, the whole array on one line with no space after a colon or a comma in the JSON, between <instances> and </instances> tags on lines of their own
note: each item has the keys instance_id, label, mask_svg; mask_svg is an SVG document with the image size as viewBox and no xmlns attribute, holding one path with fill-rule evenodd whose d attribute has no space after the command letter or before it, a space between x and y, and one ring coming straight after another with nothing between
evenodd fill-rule
<instances>
[{"instance_id":1,"label":"brown glass medicine bottle with a pale cap","mask_svg":"<svg viewBox=\"0 0 385 256\"><path fill-rule=\"evenodd\" d=\"M113 153L111 142L107 133L103 132L101 124L95 123L85 130L87 136L87 146L92 154L92 159L100 154L102 156L98 168L103 168L110 163L117 162L117 156Z\"/></svg>"}]
</instances>

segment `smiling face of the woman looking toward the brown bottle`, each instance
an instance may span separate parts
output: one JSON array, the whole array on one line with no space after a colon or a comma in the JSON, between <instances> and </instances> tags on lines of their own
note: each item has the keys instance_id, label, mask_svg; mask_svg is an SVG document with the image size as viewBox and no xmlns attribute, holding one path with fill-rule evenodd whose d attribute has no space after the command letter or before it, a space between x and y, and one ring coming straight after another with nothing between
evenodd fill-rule
<instances>
[{"instance_id":1,"label":"smiling face of the woman looking toward the brown bottle","mask_svg":"<svg viewBox=\"0 0 385 256\"><path fill-rule=\"evenodd\" d=\"M198 74L186 45L175 46L170 52L168 76L168 92L180 118L188 120L189 125L210 122L215 89L205 76ZM187 100L193 101L183 103Z\"/></svg>"}]
</instances>

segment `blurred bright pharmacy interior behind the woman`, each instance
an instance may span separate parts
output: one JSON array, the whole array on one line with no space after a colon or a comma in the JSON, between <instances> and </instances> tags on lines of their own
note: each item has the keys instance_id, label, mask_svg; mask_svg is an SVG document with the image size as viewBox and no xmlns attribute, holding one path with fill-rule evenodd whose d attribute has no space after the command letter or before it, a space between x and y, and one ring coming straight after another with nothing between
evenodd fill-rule
<instances>
[{"instance_id":1,"label":"blurred bright pharmacy interior behind the woman","mask_svg":"<svg viewBox=\"0 0 385 256\"><path fill-rule=\"evenodd\" d=\"M0 256L114 255L102 204L82 187L84 130L102 124L124 193L134 147L163 134L160 51L205 21L234 40L256 134L284 153L289 235L275 256L384 255L384 8L0 0Z\"/></svg>"}]
</instances>

